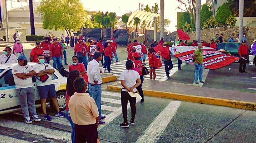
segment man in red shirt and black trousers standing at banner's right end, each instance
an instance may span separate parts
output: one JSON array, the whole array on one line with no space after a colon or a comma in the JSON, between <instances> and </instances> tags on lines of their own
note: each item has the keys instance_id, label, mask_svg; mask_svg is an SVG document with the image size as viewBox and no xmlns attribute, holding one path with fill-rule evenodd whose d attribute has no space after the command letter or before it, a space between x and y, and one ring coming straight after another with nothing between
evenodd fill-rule
<instances>
[{"instance_id":1,"label":"man in red shirt and black trousers standing at banner's right end","mask_svg":"<svg viewBox=\"0 0 256 143\"><path fill-rule=\"evenodd\" d=\"M246 68L247 60L249 59L249 51L248 51L248 46L246 45L245 40L243 40L242 45L239 46L238 53L240 56L239 72L240 73L247 72L245 71L245 68Z\"/></svg>"}]
</instances>

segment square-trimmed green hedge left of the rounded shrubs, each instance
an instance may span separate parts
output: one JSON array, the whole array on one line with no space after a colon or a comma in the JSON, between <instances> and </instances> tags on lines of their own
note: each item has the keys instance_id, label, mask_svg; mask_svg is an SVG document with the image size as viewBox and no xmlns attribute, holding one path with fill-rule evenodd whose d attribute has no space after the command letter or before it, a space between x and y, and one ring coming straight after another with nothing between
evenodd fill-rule
<instances>
[{"instance_id":1,"label":"square-trimmed green hedge left of the rounded shrubs","mask_svg":"<svg viewBox=\"0 0 256 143\"><path fill-rule=\"evenodd\" d=\"M178 12L177 13L177 28L182 29L185 23L191 24L189 12Z\"/></svg>"}]
</instances>

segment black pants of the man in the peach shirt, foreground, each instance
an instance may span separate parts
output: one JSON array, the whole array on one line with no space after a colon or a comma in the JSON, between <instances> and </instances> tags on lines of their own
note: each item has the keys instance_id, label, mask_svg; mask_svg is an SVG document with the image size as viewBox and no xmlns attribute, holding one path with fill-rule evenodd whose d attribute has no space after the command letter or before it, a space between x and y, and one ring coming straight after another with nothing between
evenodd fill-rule
<instances>
[{"instance_id":1,"label":"black pants of the man in the peach shirt, foreground","mask_svg":"<svg viewBox=\"0 0 256 143\"><path fill-rule=\"evenodd\" d=\"M75 124L75 141L76 143L97 143L98 130L97 125L78 125Z\"/></svg>"}]
</instances>

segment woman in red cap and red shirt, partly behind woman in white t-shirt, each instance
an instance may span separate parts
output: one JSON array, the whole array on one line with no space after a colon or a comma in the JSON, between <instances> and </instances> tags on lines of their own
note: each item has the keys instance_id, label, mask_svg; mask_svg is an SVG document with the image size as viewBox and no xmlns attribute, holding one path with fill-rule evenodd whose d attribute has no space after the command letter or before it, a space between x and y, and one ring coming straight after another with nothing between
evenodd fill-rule
<instances>
[{"instance_id":1,"label":"woman in red cap and red shirt, partly behind woman in white t-shirt","mask_svg":"<svg viewBox=\"0 0 256 143\"><path fill-rule=\"evenodd\" d=\"M134 61L133 61L134 62L134 66L135 66L135 68L139 69L139 75L140 75L140 81L141 81L141 84L138 87L136 87L136 88L139 91L139 94L140 94L140 96L142 98L142 99L140 99L140 103L144 104L144 95L143 95L143 90L142 90L142 83L144 81L144 78L142 76L143 64L139 60L140 59L140 54L139 53L133 53L132 55L134 57Z\"/></svg>"}]
</instances>

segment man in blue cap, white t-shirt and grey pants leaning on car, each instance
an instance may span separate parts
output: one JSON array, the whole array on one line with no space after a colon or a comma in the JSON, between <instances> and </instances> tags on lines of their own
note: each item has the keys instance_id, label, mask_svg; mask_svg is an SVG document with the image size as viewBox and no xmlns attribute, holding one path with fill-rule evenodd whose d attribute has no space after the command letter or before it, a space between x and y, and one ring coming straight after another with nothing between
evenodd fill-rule
<instances>
[{"instance_id":1,"label":"man in blue cap, white t-shirt and grey pants leaning on car","mask_svg":"<svg viewBox=\"0 0 256 143\"><path fill-rule=\"evenodd\" d=\"M18 57L18 64L12 67L12 74L25 123L30 124L32 121L41 121L36 112L35 89L32 82L32 76L34 76L36 72L27 64L25 55ZM32 118L30 118L29 113L32 115Z\"/></svg>"}]
</instances>

